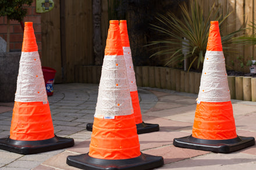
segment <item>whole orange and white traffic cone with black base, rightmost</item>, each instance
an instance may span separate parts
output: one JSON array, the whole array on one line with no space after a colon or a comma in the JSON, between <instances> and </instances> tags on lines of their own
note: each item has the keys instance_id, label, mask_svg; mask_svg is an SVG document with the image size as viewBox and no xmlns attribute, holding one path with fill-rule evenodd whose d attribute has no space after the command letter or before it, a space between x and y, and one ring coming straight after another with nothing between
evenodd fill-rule
<instances>
[{"instance_id":1,"label":"whole orange and white traffic cone with black base, rightmost","mask_svg":"<svg viewBox=\"0 0 256 170\"><path fill-rule=\"evenodd\" d=\"M200 91L191 136L173 144L197 150L229 153L255 143L253 137L237 136L222 51L218 21L211 21Z\"/></svg>"}]
</instances>

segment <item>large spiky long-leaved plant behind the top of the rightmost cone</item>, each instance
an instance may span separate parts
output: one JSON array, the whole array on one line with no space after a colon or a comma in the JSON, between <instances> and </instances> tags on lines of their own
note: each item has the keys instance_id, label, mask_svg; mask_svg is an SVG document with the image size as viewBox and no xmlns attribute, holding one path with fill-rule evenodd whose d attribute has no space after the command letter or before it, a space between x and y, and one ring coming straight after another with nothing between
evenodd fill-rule
<instances>
[{"instance_id":1,"label":"large spiky long-leaved plant behind the top of the rightmost cone","mask_svg":"<svg viewBox=\"0 0 256 170\"><path fill-rule=\"evenodd\" d=\"M165 66L188 59L190 61L188 71L193 64L198 69L204 62L211 20L219 21L219 27L221 28L223 21L231 14L227 12L226 15L219 15L221 13L220 6L216 9L214 7L215 5L212 5L209 13L204 16L199 3L196 0L191 0L190 10L187 9L186 5L180 5L182 10L181 19L170 12L166 15L158 15L159 25L151 24L151 26L155 31L161 32L163 39L152 41L149 44L154 46L152 50L157 51L150 57L169 56L166 59ZM232 37L242 30L243 28L239 28L239 30L230 34L223 35L223 49L225 49L226 44L232 42ZM183 37L187 39L188 43L182 46L184 43ZM182 53L183 50L186 51L185 57Z\"/></svg>"}]
</instances>

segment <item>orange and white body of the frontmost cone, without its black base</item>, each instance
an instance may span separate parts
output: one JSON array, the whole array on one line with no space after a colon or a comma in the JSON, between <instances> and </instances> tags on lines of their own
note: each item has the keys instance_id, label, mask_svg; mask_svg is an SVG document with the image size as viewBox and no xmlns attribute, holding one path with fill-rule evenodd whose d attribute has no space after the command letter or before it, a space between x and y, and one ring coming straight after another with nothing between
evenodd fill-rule
<instances>
[{"instance_id":1,"label":"orange and white body of the frontmost cone, without its black base","mask_svg":"<svg viewBox=\"0 0 256 170\"><path fill-rule=\"evenodd\" d=\"M119 21L109 21L90 151L93 158L122 160L141 155L134 121Z\"/></svg>"}]
</instances>

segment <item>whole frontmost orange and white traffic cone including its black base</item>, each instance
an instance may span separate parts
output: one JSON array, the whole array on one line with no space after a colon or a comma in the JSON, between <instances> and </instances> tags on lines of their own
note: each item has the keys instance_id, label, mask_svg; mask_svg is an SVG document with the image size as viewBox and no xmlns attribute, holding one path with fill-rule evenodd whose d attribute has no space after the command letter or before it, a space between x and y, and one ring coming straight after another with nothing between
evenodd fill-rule
<instances>
[{"instance_id":1,"label":"whole frontmost orange and white traffic cone including its black base","mask_svg":"<svg viewBox=\"0 0 256 170\"><path fill-rule=\"evenodd\" d=\"M67 164L81 169L152 169L163 158L140 152L119 21L109 21L90 151L67 157Z\"/></svg>"}]
</instances>

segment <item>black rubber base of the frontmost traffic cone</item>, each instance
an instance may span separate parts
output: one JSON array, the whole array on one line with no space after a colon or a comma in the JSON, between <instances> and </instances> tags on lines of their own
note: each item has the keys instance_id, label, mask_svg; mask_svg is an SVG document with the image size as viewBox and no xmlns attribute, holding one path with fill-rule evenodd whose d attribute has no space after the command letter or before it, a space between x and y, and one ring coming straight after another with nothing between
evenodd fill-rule
<instances>
[{"instance_id":1,"label":"black rubber base of the frontmost traffic cone","mask_svg":"<svg viewBox=\"0 0 256 170\"><path fill-rule=\"evenodd\" d=\"M118 170L118 169L154 169L163 165L163 157L143 154L136 158L124 160L102 160L90 157L87 154L68 156L66 160L67 165L80 169L98 170Z\"/></svg>"}]
</instances>

